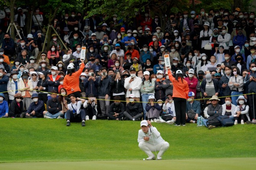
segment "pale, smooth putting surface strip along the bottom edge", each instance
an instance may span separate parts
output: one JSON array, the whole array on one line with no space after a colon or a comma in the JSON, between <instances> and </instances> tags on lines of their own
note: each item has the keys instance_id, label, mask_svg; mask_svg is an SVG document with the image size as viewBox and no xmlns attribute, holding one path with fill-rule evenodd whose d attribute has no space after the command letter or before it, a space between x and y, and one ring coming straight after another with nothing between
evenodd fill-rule
<instances>
[{"instance_id":1,"label":"pale, smooth putting surface strip along the bottom edge","mask_svg":"<svg viewBox=\"0 0 256 170\"><path fill-rule=\"evenodd\" d=\"M2 163L1 170L255 170L256 158Z\"/></svg>"}]
</instances>

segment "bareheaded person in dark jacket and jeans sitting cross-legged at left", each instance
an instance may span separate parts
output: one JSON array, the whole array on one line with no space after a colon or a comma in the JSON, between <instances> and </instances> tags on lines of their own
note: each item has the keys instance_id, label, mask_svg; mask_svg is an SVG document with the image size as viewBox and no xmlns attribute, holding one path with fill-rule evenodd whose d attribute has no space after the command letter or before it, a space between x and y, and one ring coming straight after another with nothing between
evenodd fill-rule
<instances>
[{"instance_id":1,"label":"bareheaded person in dark jacket and jeans sitting cross-legged at left","mask_svg":"<svg viewBox=\"0 0 256 170\"><path fill-rule=\"evenodd\" d=\"M62 104L60 101L57 100L57 94L58 92L55 90L52 90L51 92L51 99L47 100L46 108L47 111L44 111L44 118L46 119L61 119L64 115L64 112L62 111Z\"/></svg>"}]
</instances>

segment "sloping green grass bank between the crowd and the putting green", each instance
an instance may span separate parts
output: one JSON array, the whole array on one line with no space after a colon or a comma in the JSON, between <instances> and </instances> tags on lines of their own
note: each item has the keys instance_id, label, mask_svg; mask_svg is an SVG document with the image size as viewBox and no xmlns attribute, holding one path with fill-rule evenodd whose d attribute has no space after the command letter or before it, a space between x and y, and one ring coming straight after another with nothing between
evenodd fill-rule
<instances>
[{"instance_id":1,"label":"sloping green grass bank between the crowd and the putting green","mask_svg":"<svg viewBox=\"0 0 256 170\"><path fill-rule=\"evenodd\" d=\"M0 162L142 160L139 122L63 119L0 119ZM170 143L163 159L256 157L255 125L215 128L152 123Z\"/></svg>"}]
</instances>

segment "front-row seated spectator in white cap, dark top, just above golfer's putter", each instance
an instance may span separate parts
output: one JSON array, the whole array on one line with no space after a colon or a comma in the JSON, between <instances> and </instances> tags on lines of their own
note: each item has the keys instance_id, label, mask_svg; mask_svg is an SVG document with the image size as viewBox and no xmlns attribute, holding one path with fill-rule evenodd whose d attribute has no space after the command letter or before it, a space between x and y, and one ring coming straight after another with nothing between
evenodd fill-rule
<instances>
[{"instance_id":1,"label":"front-row seated spectator in white cap, dark top, just above golfer's putter","mask_svg":"<svg viewBox=\"0 0 256 170\"><path fill-rule=\"evenodd\" d=\"M162 107L159 106L158 103L154 103L156 102L154 95L149 96L148 102L149 103L146 104L146 117L148 120L150 119L151 122L157 122L157 120L159 120Z\"/></svg>"}]
</instances>

